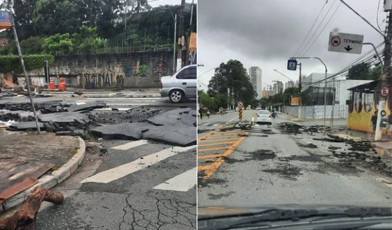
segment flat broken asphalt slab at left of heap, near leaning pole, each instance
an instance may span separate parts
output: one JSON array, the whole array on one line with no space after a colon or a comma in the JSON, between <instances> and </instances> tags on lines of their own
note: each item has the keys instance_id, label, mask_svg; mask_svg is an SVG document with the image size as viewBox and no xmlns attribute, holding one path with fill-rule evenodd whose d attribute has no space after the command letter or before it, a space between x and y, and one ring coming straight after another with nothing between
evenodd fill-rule
<instances>
[{"instance_id":1,"label":"flat broken asphalt slab at left of heap, near leaning pole","mask_svg":"<svg viewBox=\"0 0 392 230\"><path fill-rule=\"evenodd\" d=\"M48 113L44 115L39 115L38 120L40 122L56 122L56 123L71 123L71 122L79 122L85 123L88 121L88 117L83 113L76 112L64 112L64 113Z\"/></svg>"}]
</instances>

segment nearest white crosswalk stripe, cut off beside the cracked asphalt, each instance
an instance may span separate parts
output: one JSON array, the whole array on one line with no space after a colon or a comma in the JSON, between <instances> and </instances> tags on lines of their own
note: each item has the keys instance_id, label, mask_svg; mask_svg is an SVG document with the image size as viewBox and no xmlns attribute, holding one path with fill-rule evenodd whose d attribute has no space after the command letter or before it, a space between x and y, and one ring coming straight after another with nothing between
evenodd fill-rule
<instances>
[{"instance_id":1,"label":"nearest white crosswalk stripe, cut off beside the cracked asphalt","mask_svg":"<svg viewBox=\"0 0 392 230\"><path fill-rule=\"evenodd\" d=\"M196 185L197 167L155 186L154 189L186 192Z\"/></svg>"}]
</instances>

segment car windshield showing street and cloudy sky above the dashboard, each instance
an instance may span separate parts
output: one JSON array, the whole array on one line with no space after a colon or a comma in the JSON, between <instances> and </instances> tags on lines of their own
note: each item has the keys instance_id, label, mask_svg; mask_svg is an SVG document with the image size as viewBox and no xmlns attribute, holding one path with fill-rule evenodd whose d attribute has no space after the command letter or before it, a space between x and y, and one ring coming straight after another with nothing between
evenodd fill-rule
<instances>
[{"instance_id":1,"label":"car windshield showing street and cloudy sky above the dashboard","mask_svg":"<svg viewBox=\"0 0 392 230\"><path fill-rule=\"evenodd\" d=\"M198 1L199 211L392 207L391 8Z\"/></svg>"}]
</instances>

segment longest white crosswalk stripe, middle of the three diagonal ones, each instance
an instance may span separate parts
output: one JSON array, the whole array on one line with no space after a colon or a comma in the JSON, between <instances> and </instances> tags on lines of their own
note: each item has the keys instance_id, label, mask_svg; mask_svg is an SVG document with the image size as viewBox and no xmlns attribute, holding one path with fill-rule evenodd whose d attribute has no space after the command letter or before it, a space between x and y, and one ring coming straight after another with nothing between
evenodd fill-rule
<instances>
[{"instance_id":1,"label":"longest white crosswalk stripe, middle of the three diagonal ones","mask_svg":"<svg viewBox=\"0 0 392 230\"><path fill-rule=\"evenodd\" d=\"M174 156L182 151L187 151L189 149L194 149L196 145L190 147L172 147L171 149L163 149L162 151L158 151L154 154L149 154L147 156L143 156L136 161L132 161L130 163L126 163L125 165L120 165L118 167L113 167L110 170L106 170L104 172L99 172L94 176L90 176L87 179L79 183L110 183L111 181L115 181L120 179L126 175L129 175L133 172L137 172L139 170L144 169L150 165L154 165L159 161L163 161L170 156Z\"/></svg>"}]
</instances>

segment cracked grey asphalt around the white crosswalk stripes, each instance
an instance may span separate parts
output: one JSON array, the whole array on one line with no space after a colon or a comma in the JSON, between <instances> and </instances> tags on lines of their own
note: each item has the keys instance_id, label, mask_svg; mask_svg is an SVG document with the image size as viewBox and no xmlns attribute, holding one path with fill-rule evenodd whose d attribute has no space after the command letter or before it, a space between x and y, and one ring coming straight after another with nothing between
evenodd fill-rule
<instances>
[{"instance_id":1,"label":"cracked grey asphalt around the white crosswalk stripes","mask_svg":"<svg viewBox=\"0 0 392 230\"><path fill-rule=\"evenodd\" d=\"M110 148L129 141L102 142ZM148 143L133 148L131 154L110 149L101 161L90 162L87 157L86 165L82 165L71 179L54 189L65 193L65 202L57 206L44 206L37 217L37 228L196 229L195 186L186 192L154 189L154 186L194 167L195 148L110 183L79 183L98 172L169 148L170 145ZM89 164L95 164L95 170L85 170Z\"/></svg>"}]
</instances>

